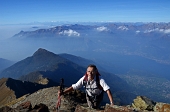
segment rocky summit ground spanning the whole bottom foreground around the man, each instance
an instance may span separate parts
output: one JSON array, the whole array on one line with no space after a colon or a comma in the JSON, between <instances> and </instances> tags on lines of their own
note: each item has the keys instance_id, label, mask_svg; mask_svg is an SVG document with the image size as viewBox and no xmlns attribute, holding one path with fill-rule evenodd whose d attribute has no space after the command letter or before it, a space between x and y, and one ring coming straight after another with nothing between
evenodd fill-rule
<instances>
[{"instance_id":1,"label":"rocky summit ground spanning the whole bottom foreground around the man","mask_svg":"<svg viewBox=\"0 0 170 112\"><path fill-rule=\"evenodd\" d=\"M138 96L131 105L103 105L100 109L87 106L85 93L75 90L61 97L57 110L59 87L38 90L24 95L0 108L0 112L170 112L170 104L154 102L145 96Z\"/></svg>"}]
</instances>

